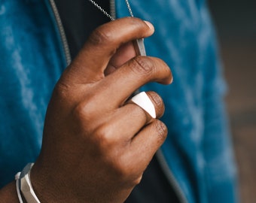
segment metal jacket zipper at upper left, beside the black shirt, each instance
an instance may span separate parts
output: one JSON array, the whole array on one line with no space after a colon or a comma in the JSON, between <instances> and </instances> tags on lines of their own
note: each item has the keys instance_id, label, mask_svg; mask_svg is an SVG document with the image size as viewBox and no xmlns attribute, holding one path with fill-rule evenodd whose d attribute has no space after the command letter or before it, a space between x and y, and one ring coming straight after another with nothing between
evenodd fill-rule
<instances>
[{"instance_id":1,"label":"metal jacket zipper at upper left, beside the black shirt","mask_svg":"<svg viewBox=\"0 0 256 203\"><path fill-rule=\"evenodd\" d=\"M57 28L59 29L59 35L60 35L60 38L61 38L61 41L62 41L62 46L63 46L64 53L65 53L65 56L66 56L66 65L69 65L72 59L71 59L71 54L70 54L69 44L68 44L68 41L67 41L67 38L66 38L66 34L65 34L62 22L61 22L60 17L59 17L59 11L56 7L56 4L55 4L54 0L49 0L49 2L50 2L50 6L53 10L53 14L54 14L54 17L55 17L55 20L56 20Z\"/></svg>"}]
</instances>

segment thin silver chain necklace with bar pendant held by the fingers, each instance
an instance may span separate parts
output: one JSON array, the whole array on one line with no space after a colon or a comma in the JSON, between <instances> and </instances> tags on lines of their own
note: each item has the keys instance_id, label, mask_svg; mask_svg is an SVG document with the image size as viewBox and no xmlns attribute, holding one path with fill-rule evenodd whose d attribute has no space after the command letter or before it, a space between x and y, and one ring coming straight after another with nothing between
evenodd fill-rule
<instances>
[{"instance_id":1,"label":"thin silver chain necklace with bar pendant held by the fingers","mask_svg":"<svg viewBox=\"0 0 256 203\"><path fill-rule=\"evenodd\" d=\"M100 5L98 5L95 1L93 0L88 0L89 2L91 2L96 8L99 9L99 11L102 12L102 14L104 14L106 17L108 17L110 20L115 20L114 17L111 16L111 14L108 14L107 11L105 11ZM130 13L130 16L131 17L134 17L133 16L133 11L132 11L132 8L130 7L130 3L129 3L129 0L125 0L126 2L126 6L127 6L127 9ZM134 41L134 47L135 47L135 50L136 50L136 53L137 55L140 55L140 56L146 56L146 50L145 50L145 45L144 45L144 39L137 39L136 41Z\"/></svg>"}]
</instances>

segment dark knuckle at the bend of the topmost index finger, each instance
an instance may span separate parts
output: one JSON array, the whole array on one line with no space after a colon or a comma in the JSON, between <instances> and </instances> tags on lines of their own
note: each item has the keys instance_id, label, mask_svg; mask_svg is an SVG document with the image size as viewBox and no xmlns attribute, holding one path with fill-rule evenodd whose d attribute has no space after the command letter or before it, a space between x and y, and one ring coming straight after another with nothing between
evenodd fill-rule
<instances>
[{"instance_id":1,"label":"dark knuckle at the bend of the topmost index finger","mask_svg":"<svg viewBox=\"0 0 256 203\"><path fill-rule=\"evenodd\" d=\"M103 31L100 28L97 28L88 38L88 41L93 45L104 45L108 44L111 41L111 35L109 32Z\"/></svg>"}]
</instances>

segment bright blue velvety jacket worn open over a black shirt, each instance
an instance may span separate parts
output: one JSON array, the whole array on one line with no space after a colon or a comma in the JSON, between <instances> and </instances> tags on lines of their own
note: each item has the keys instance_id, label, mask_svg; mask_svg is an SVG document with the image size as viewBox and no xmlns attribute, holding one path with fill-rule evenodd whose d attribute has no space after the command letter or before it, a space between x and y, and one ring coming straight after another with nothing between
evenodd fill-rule
<instances>
[{"instance_id":1,"label":"bright blue velvety jacket worn open over a black shirt","mask_svg":"<svg viewBox=\"0 0 256 203\"><path fill-rule=\"evenodd\" d=\"M0 186L41 148L53 86L69 63L51 0L0 4ZM225 83L204 0L133 0L136 17L154 24L148 55L165 60L174 83L150 83L166 105L169 128L157 157L182 202L236 202L236 168L227 129ZM117 0L117 17L128 16Z\"/></svg>"}]
</instances>

